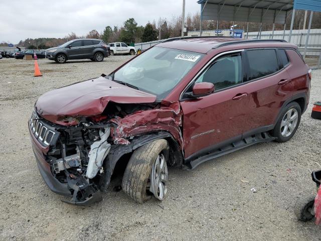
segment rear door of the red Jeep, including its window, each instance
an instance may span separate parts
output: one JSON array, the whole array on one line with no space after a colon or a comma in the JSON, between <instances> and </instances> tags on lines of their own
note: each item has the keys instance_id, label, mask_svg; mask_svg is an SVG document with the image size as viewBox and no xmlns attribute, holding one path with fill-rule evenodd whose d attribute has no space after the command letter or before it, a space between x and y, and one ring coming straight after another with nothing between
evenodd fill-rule
<instances>
[{"instance_id":1,"label":"rear door of the red Jeep, including its window","mask_svg":"<svg viewBox=\"0 0 321 241\"><path fill-rule=\"evenodd\" d=\"M284 50L280 50L281 60L278 51L271 48L244 51L247 60L245 81L249 93L244 136L271 129L283 102L291 97L290 76L286 71L287 56Z\"/></svg>"}]
</instances>

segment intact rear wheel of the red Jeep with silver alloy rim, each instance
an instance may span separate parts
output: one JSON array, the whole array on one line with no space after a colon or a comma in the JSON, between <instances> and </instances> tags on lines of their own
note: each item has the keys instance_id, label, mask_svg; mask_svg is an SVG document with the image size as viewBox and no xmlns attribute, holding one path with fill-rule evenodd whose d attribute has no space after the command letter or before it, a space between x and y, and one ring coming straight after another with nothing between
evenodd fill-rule
<instances>
[{"instance_id":1,"label":"intact rear wheel of the red Jeep with silver alloy rim","mask_svg":"<svg viewBox=\"0 0 321 241\"><path fill-rule=\"evenodd\" d=\"M296 114L296 117L295 117ZM292 119L293 118L293 119ZM292 121L291 121L292 119ZM293 101L288 103L282 111L274 129L272 136L276 137L276 142L287 142L290 140L301 121L301 107Z\"/></svg>"}]
</instances>

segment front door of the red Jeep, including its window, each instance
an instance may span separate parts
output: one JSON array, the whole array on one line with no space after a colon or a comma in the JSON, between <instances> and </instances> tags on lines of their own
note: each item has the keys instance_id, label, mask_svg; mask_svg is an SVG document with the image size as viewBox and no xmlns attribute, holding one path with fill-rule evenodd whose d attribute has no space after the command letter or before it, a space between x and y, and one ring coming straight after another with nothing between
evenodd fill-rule
<instances>
[{"instance_id":1,"label":"front door of the red Jeep, including its window","mask_svg":"<svg viewBox=\"0 0 321 241\"><path fill-rule=\"evenodd\" d=\"M241 52L215 59L196 79L196 82L213 83L215 91L205 97L181 101L185 158L241 140L249 101L242 81Z\"/></svg>"}]
</instances>

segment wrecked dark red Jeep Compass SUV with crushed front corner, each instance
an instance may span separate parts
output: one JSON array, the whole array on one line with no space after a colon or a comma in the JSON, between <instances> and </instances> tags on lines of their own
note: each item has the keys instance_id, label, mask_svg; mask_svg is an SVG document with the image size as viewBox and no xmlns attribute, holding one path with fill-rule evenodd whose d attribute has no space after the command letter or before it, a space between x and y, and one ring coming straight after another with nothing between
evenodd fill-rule
<instances>
[{"instance_id":1,"label":"wrecked dark red Jeep Compass SUV with crushed front corner","mask_svg":"<svg viewBox=\"0 0 321 241\"><path fill-rule=\"evenodd\" d=\"M167 196L168 166L192 169L255 143L293 137L311 72L281 40L176 38L109 75L39 97L29 122L49 188L87 205L115 168L137 202Z\"/></svg>"}]
</instances>

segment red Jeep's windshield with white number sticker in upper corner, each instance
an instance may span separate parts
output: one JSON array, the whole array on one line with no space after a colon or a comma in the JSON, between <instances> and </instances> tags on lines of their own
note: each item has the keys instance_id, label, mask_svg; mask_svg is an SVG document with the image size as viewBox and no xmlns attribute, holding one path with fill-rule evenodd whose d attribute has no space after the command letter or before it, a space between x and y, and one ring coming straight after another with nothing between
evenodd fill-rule
<instances>
[{"instance_id":1,"label":"red Jeep's windshield with white number sticker in upper corner","mask_svg":"<svg viewBox=\"0 0 321 241\"><path fill-rule=\"evenodd\" d=\"M165 98L204 54L153 47L114 73L115 81Z\"/></svg>"}]
</instances>

